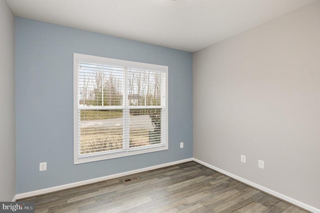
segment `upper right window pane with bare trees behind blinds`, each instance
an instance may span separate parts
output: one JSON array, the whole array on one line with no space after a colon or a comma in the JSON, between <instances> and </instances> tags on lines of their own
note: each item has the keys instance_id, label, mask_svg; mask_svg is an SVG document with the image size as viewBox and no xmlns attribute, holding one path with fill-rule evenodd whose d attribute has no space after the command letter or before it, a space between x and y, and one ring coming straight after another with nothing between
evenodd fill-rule
<instances>
[{"instance_id":1,"label":"upper right window pane with bare trees behind blinds","mask_svg":"<svg viewBox=\"0 0 320 213\"><path fill-rule=\"evenodd\" d=\"M129 105L161 105L161 82L160 71L128 68Z\"/></svg>"}]
</instances>

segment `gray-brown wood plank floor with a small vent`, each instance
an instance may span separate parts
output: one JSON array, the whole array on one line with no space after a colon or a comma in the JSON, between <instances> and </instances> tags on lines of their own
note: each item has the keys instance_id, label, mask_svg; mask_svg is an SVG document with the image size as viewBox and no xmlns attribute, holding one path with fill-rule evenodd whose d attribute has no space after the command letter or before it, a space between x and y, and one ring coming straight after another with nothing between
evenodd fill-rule
<instances>
[{"instance_id":1,"label":"gray-brown wood plank floor with a small vent","mask_svg":"<svg viewBox=\"0 0 320 213\"><path fill-rule=\"evenodd\" d=\"M35 212L307 212L193 161L23 200Z\"/></svg>"}]
</instances>

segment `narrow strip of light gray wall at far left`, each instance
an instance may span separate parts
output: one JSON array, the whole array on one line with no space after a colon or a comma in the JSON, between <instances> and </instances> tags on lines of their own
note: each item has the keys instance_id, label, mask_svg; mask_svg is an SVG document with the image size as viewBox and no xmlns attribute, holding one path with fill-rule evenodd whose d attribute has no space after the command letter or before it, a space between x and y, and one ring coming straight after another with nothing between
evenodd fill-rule
<instances>
[{"instance_id":1,"label":"narrow strip of light gray wall at far left","mask_svg":"<svg viewBox=\"0 0 320 213\"><path fill-rule=\"evenodd\" d=\"M14 15L0 0L0 201L15 195Z\"/></svg>"}]
</instances>

